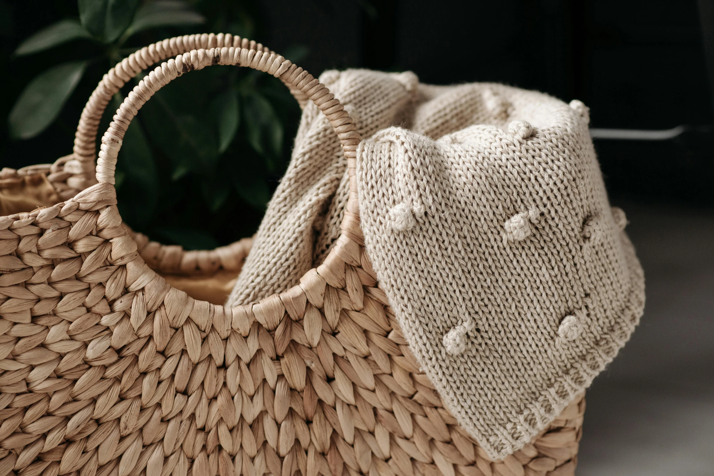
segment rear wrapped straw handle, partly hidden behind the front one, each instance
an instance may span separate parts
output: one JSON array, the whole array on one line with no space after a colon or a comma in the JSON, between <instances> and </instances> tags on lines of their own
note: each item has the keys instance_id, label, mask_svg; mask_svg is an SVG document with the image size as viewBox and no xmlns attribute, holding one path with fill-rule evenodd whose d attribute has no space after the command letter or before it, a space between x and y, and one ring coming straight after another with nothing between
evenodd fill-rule
<instances>
[{"instance_id":1,"label":"rear wrapped straw handle, partly hidden behind the front one","mask_svg":"<svg viewBox=\"0 0 714 476\"><path fill-rule=\"evenodd\" d=\"M123 88L131 78L148 69L151 65L159 63L159 61L164 61L166 58L195 49L222 48L224 46L246 48L262 51L263 53L275 53L261 43L248 40L248 38L241 38L241 36L234 36L231 33L197 33L176 36L144 46L144 48L131 53L121 62L116 63L116 66L111 68L99 81L79 118L79 124L74 134L73 153L66 157L61 157L52 171L70 172L72 176L69 177L67 185L71 189L83 190L89 185L93 185L95 183L96 135L101 117L104 115L104 110L109 105L112 96ZM291 85L287 86L301 107L303 107L308 101L306 95Z\"/></svg>"}]
</instances>

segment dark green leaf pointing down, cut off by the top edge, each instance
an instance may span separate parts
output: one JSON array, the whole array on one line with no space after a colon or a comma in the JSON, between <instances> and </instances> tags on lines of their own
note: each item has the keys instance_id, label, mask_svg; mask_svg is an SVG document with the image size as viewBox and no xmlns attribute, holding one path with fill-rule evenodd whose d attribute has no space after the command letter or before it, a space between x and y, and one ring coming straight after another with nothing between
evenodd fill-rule
<instances>
[{"instance_id":1,"label":"dark green leaf pointing down, cut off by the top edge","mask_svg":"<svg viewBox=\"0 0 714 476\"><path fill-rule=\"evenodd\" d=\"M78 0L82 26L104 43L124 33L134 18L139 0Z\"/></svg>"}]
</instances>

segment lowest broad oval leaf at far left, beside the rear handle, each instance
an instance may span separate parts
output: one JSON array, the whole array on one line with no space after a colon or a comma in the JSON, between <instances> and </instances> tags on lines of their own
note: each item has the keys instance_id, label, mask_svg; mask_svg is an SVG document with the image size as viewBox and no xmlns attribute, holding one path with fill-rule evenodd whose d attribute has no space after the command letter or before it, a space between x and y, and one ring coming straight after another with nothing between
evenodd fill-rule
<instances>
[{"instance_id":1,"label":"lowest broad oval leaf at far left, beside the rear handle","mask_svg":"<svg viewBox=\"0 0 714 476\"><path fill-rule=\"evenodd\" d=\"M34 138L53 123L77 87L86 65L86 61L61 63L30 81L8 116L11 137Z\"/></svg>"}]
</instances>

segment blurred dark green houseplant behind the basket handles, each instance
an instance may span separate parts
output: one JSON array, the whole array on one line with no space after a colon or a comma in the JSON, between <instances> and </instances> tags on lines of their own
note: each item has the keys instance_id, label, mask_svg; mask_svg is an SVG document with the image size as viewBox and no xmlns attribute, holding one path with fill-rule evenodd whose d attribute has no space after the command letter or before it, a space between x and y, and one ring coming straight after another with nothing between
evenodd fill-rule
<instances>
[{"instance_id":1,"label":"blurred dark green houseplant behind the basket handles","mask_svg":"<svg viewBox=\"0 0 714 476\"><path fill-rule=\"evenodd\" d=\"M62 19L16 48L19 57L70 41L94 46L77 48L76 58L29 82L8 116L12 139L36 138L81 81L96 85L141 46L202 31L251 37L254 24L236 1L79 0L78 13L79 19ZM293 58L296 53L299 48ZM110 103L100 136L140 78ZM215 66L170 83L146 103L124 139L116 188L125 222L186 249L210 249L251 234L284 170L287 138L298 118L284 86L256 71Z\"/></svg>"}]
</instances>

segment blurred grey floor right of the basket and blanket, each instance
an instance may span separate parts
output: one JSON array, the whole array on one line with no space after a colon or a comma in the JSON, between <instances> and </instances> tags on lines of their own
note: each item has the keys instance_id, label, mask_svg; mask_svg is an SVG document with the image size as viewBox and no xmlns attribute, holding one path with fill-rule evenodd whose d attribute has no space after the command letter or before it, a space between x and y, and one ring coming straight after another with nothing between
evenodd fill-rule
<instances>
[{"instance_id":1,"label":"blurred grey floor right of the basket and blanket","mask_svg":"<svg viewBox=\"0 0 714 476\"><path fill-rule=\"evenodd\" d=\"M645 315L587 393L578 476L714 475L714 211L613 200Z\"/></svg>"}]
</instances>

